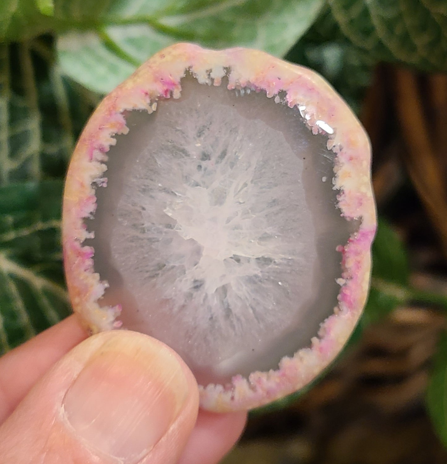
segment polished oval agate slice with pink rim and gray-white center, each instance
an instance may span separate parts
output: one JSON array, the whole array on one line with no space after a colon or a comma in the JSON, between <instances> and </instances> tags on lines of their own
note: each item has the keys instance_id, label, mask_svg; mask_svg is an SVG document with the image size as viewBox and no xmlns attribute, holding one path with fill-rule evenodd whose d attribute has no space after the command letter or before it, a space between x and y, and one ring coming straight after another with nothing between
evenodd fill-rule
<instances>
[{"instance_id":1,"label":"polished oval agate slice with pink rim and gray-white center","mask_svg":"<svg viewBox=\"0 0 447 464\"><path fill-rule=\"evenodd\" d=\"M92 332L175 349L203 407L248 409L342 348L375 227L368 139L321 77L263 52L174 45L104 99L76 147L70 297Z\"/></svg>"}]
</instances>

